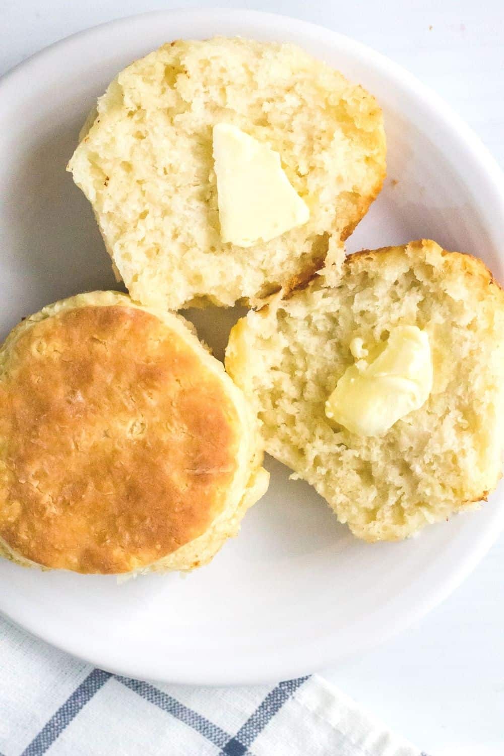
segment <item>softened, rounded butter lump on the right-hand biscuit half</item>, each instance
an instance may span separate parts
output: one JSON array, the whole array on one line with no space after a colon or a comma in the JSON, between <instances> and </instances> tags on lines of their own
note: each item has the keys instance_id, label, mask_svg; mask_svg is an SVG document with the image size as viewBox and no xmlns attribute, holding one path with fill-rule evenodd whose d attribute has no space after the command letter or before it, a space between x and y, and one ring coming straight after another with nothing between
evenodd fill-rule
<instances>
[{"instance_id":1,"label":"softened, rounded butter lump on the right-hand biscuit half","mask_svg":"<svg viewBox=\"0 0 504 756\"><path fill-rule=\"evenodd\" d=\"M363 349L352 339L355 364L345 370L326 401L326 416L357 435L381 435L401 417L418 410L432 390L428 334L397 326L386 342Z\"/></svg>"}]
</instances>

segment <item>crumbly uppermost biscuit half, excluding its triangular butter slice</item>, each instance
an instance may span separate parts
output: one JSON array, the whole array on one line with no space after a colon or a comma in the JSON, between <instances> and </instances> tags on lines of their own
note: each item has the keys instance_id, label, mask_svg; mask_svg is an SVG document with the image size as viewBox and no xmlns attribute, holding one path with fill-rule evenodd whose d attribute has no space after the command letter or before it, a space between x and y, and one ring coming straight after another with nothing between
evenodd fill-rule
<instances>
[{"instance_id":1,"label":"crumbly uppermost biscuit half, excluding its triangular butter slice","mask_svg":"<svg viewBox=\"0 0 504 756\"><path fill-rule=\"evenodd\" d=\"M236 126L280 155L308 222L270 241L221 240L212 129ZM385 176L382 112L362 87L293 45L177 41L114 79L69 170L133 299L172 310L261 304L342 241Z\"/></svg>"}]
</instances>

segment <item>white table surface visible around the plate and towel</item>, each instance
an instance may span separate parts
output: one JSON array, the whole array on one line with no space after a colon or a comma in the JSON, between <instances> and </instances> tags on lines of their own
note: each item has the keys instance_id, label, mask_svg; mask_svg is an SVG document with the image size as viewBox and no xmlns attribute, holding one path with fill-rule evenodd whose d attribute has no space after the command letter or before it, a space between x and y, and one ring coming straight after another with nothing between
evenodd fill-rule
<instances>
[{"instance_id":1,"label":"white table surface visible around the plate and towel","mask_svg":"<svg viewBox=\"0 0 504 756\"><path fill-rule=\"evenodd\" d=\"M97 23L141 11L212 5L233 8L240 3L1 0L0 74L51 42ZM270 0L241 5L320 23L388 55L437 90L504 167L501 0ZM502 578L504 537L465 584L416 627L325 670L325 677L432 756L504 753Z\"/></svg>"}]
</instances>

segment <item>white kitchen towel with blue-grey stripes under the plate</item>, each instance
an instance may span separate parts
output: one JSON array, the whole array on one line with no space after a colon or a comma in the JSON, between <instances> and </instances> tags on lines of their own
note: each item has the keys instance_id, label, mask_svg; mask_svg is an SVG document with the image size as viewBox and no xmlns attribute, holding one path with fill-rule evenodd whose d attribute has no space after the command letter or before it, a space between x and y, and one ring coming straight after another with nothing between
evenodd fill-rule
<instances>
[{"instance_id":1,"label":"white kitchen towel with blue-grey stripes under the plate","mask_svg":"<svg viewBox=\"0 0 504 756\"><path fill-rule=\"evenodd\" d=\"M120 677L0 618L0 756L426 756L321 677L203 688Z\"/></svg>"}]
</instances>

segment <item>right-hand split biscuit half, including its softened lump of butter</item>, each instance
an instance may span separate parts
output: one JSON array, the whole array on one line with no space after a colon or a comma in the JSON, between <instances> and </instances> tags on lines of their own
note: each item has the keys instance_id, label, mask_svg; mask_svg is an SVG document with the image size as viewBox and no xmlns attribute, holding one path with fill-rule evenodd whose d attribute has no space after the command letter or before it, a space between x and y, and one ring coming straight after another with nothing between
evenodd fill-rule
<instances>
[{"instance_id":1,"label":"right-hand split biscuit half, including its softened lump of butter","mask_svg":"<svg viewBox=\"0 0 504 756\"><path fill-rule=\"evenodd\" d=\"M428 240L351 255L239 321L226 364L266 450L358 538L406 538L499 480L504 293L471 256Z\"/></svg>"}]
</instances>

